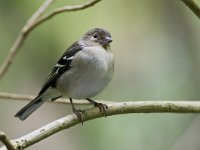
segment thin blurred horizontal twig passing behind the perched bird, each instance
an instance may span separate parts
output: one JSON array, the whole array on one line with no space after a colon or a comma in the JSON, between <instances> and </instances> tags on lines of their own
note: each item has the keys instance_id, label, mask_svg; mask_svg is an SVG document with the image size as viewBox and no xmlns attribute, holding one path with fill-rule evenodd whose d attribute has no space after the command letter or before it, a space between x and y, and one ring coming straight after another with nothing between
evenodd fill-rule
<instances>
[{"instance_id":1,"label":"thin blurred horizontal twig passing behind the perched bird","mask_svg":"<svg viewBox=\"0 0 200 150\"><path fill-rule=\"evenodd\" d=\"M25 101L28 100L28 101L30 101L30 100L33 100L34 98L35 98L35 96L33 96L33 95L22 95L22 94L0 92L0 99L25 100ZM49 102L51 102L51 101L49 101ZM70 104L69 99L66 99L66 98L59 98L54 102ZM105 103L105 104L113 103L111 101L100 101L100 102ZM89 105L90 103L86 100L74 100L74 104L76 104L76 105Z\"/></svg>"}]
</instances>

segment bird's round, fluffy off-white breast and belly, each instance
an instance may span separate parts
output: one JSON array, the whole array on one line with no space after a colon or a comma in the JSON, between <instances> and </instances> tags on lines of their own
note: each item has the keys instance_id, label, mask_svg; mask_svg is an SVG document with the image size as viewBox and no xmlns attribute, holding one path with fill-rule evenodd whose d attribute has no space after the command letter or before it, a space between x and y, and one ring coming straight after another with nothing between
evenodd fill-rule
<instances>
[{"instance_id":1,"label":"bird's round, fluffy off-white breast and belly","mask_svg":"<svg viewBox=\"0 0 200 150\"><path fill-rule=\"evenodd\" d=\"M58 80L58 90L75 99L91 98L101 92L113 77L113 55L102 48L78 52L72 67Z\"/></svg>"}]
</instances>

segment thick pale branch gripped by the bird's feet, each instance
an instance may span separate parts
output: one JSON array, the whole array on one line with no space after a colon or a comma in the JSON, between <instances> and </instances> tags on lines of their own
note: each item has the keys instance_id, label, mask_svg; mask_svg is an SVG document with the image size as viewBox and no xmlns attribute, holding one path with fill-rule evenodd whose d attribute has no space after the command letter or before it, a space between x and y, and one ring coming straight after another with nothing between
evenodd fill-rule
<instances>
[{"instance_id":1,"label":"thick pale branch gripped by the bird's feet","mask_svg":"<svg viewBox=\"0 0 200 150\"><path fill-rule=\"evenodd\" d=\"M135 101L121 102L108 105L107 115L128 113L200 113L199 101ZM88 121L104 117L104 113L98 108L85 110L82 118ZM67 115L51 122L25 136L12 140L11 143L18 149L25 149L61 130L68 129L79 124L80 121L75 114ZM5 147L0 148L3 150Z\"/></svg>"}]
</instances>

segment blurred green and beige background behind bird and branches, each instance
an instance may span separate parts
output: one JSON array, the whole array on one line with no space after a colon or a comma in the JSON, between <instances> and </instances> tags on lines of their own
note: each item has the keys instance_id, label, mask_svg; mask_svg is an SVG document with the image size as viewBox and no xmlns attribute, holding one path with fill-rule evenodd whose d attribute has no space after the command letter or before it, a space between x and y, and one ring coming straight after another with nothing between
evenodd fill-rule
<instances>
[{"instance_id":1,"label":"blurred green and beige background behind bird and branches","mask_svg":"<svg viewBox=\"0 0 200 150\"><path fill-rule=\"evenodd\" d=\"M57 0L48 11L84 2ZM0 0L0 63L41 3ZM111 32L116 61L114 79L94 99L200 99L200 20L180 0L104 0L56 16L28 36L0 91L36 95L64 50L94 27ZM12 139L71 113L71 106L48 103L21 122L13 116L26 103L0 100L0 130ZM199 115L129 114L85 122L28 149L199 150L199 139Z\"/></svg>"}]
</instances>

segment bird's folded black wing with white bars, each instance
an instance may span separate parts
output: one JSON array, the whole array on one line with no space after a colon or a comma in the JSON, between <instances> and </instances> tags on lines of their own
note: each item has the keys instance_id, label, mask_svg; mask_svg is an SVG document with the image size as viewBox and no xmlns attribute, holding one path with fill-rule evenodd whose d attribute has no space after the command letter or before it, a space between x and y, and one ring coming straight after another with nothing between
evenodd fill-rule
<instances>
[{"instance_id":1,"label":"bird's folded black wing with white bars","mask_svg":"<svg viewBox=\"0 0 200 150\"><path fill-rule=\"evenodd\" d=\"M49 87L56 86L56 80L63 74L63 72L70 69L71 61L73 56L83 49L83 46L75 42L72 44L58 60L52 71L47 76L46 82L44 83L39 95L43 94Z\"/></svg>"}]
</instances>

